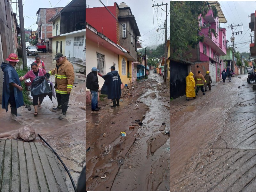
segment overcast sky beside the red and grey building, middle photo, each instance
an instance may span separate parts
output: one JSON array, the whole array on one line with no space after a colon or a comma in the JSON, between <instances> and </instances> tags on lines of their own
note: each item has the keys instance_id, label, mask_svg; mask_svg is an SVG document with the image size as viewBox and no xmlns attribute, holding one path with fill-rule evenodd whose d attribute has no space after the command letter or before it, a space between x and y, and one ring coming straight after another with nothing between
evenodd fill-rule
<instances>
[{"instance_id":1,"label":"overcast sky beside the red and grey building, middle photo","mask_svg":"<svg viewBox=\"0 0 256 192\"><path fill-rule=\"evenodd\" d=\"M164 29L159 29L156 32L156 28L164 28L165 12L159 7L152 7L153 2L155 4L167 5L167 38L170 36L170 1L168 0L101 0L104 5L114 6L114 2L118 5L121 2L126 3L132 10L132 14L135 16L138 28L140 30L140 39L142 41L142 47L146 47L152 44L163 44L164 43ZM86 6L91 7L102 7L103 5L98 0L86 0ZM161 6L164 10L166 6ZM155 8L155 9L154 9ZM157 14L157 16L156 16ZM159 24L158 24L159 23Z\"/></svg>"}]
</instances>

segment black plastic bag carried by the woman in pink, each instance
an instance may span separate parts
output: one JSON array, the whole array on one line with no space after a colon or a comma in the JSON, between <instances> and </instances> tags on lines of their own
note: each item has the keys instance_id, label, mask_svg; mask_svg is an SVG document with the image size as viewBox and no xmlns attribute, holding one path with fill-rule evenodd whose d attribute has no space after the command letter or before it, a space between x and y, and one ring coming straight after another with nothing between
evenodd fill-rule
<instances>
[{"instance_id":1,"label":"black plastic bag carried by the woman in pink","mask_svg":"<svg viewBox=\"0 0 256 192\"><path fill-rule=\"evenodd\" d=\"M31 84L31 95L49 96L52 100L52 90L44 76L37 76Z\"/></svg>"}]
</instances>

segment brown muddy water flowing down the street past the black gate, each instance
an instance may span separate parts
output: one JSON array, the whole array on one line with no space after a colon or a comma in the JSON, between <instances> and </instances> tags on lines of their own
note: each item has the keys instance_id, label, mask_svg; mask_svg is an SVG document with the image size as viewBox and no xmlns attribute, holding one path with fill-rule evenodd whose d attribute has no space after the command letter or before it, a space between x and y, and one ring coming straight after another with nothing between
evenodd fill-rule
<instances>
[{"instance_id":1,"label":"brown muddy water flowing down the street past the black gate","mask_svg":"<svg viewBox=\"0 0 256 192\"><path fill-rule=\"evenodd\" d=\"M242 75L245 78L246 75ZM235 77L236 78L236 77ZM234 79L235 79L234 78ZM245 78L246 79L246 78ZM193 156L200 150L211 149L212 143L220 139L220 133L226 126L232 126L230 110L236 105L237 94L250 89L250 85L242 86L244 81L236 78L231 82L219 82L196 101L171 116L171 186L186 174ZM237 87L241 86L242 89ZM246 95L244 95L246 97ZM186 99L186 98L185 98ZM185 101L186 102L186 101ZM172 188L174 189L174 188ZM171 190L172 191L172 190Z\"/></svg>"}]
</instances>

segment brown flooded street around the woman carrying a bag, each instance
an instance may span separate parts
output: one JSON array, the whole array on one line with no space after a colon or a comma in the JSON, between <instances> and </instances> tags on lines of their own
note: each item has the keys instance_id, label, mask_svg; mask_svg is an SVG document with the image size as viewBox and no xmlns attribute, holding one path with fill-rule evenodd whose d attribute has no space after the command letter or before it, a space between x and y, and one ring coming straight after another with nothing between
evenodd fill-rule
<instances>
[{"instance_id":1,"label":"brown flooded street around the woman carrying a bag","mask_svg":"<svg viewBox=\"0 0 256 192\"><path fill-rule=\"evenodd\" d=\"M39 52L41 60L44 61L46 71L53 69L56 66L56 61L52 53ZM35 61L35 56L27 56L28 66ZM75 67L74 67L75 68ZM79 77L78 77L79 76ZM50 77L52 82L55 82L54 76ZM85 165L85 75L76 73L76 87L72 89L69 99L69 108L67 117L59 120L58 117L61 111L52 110L57 107L57 99L53 97L53 103L49 97L45 97L41 109L38 109L38 115L34 116L34 108L28 111L25 106L18 108L18 116L12 119L10 106L6 113L4 109L0 110L1 129L0 137L16 139L18 129L26 125L31 125L36 135L40 134L51 147L56 150L63 162L68 167L70 174L75 183L80 175L82 167ZM33 142L44 142L37 136ZM67 175L66 183L69 191L73 191L71 181Z\"/></svg>"}]
</instances>

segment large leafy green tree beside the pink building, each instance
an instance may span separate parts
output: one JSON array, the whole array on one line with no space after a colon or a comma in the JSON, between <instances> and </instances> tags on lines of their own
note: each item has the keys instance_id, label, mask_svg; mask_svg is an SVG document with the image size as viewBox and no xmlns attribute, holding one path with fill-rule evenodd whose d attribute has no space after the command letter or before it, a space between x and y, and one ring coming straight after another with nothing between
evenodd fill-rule
<instances>
[{"instance_id":1,"label":"large leafy green tree beside the pink building","mask_svg":"<svg viewBox=\"0 0 256 192\"><path fill-rule=\"evenodd\" d=\"M209 11L206 1L171 1L171 57L188 59L191 55L186 54L188 46L196 48L199 41L204 41L204 36L198 35L199 20Z\"/></svg>"}]
</instances>

